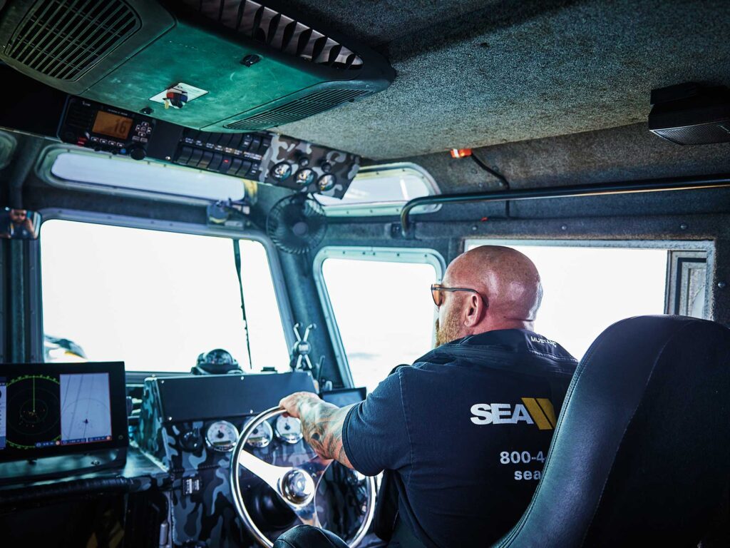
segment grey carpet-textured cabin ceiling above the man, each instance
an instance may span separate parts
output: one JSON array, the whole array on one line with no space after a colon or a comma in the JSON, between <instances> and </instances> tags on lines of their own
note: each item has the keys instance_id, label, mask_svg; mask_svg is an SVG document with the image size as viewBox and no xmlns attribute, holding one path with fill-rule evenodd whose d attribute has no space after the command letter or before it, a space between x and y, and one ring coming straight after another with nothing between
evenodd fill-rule
<instances>
[{"instance_id":1,"label":"grey carpet-textured cabin ceiling above the man","mask_svg":"<svg viewBox=\"0 0 730 548\"><path fill-rule=\"evenodd\" d=\"M397 76L279 130L378 161L636 124L653 88L730 84L727 0L288 5L380 50Z\"/></svg>"}]
</instances>

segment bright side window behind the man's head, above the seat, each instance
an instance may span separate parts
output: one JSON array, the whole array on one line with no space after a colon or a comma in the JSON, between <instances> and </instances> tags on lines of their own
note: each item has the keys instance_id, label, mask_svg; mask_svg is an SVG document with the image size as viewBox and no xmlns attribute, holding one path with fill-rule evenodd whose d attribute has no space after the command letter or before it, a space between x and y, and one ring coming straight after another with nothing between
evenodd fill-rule
<instances>
[{"instance_id":1,"label":"bright side window behind the man's head, above the seat","mask_svg":"<svg viewBox=\"0 0 730 548\"><path fill-rule=\"evenodd\" d=\"M583 247L558 242L512 245L467 240L465 248L488 243L513 247L532 259L545 291L535 330L557 340L578 359L615 321L646 314L704 314L706 251L689 254L691 259L685 257L685 262L672 262L677 252L666 247L616 248L609 247L610 243L606 247ZM667 283L667 267L671 273L672 264L683 281L680 284L680 278L676 278L680 289L676 307L672 297L675 283Z\"/></svg>"}]
</instances>

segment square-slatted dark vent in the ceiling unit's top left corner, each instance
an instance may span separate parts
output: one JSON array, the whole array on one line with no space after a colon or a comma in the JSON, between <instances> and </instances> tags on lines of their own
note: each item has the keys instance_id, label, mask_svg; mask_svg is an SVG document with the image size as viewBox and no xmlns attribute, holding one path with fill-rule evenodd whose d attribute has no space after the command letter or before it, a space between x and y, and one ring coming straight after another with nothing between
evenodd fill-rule
<instances>
[{"instance_id":1,"label":"square-slatted dark vent in the ceiling unit's top left corner","mask_svg":"<svg viewBox=\"0 0 730 548\"><path fill-rule=\"evenodd\" d=\"M77 80L140 27L122 0L42 0L28 12L5 55L58 80Z\"/></svg>"}]
</instances>

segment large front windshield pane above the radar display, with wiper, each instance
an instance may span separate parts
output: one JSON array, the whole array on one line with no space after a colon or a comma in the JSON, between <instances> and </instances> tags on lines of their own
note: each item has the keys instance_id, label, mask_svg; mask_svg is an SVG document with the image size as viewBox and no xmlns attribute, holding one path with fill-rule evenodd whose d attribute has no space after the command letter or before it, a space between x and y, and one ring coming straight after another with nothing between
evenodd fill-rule
<instances>
[{"instance_id":1,"label":"large front windshield pane above the radar display, with wiper","mask_svg":"<svg viewBox=\"0 0 730 548\"><path fill-rule=\"evenodd\" d=\"M230 239L50 220L40 240L48 361L183 372L223 348L250 368ZM288 370L266 249L240 248L253 370Z\"/></svg>"}]
</instances>

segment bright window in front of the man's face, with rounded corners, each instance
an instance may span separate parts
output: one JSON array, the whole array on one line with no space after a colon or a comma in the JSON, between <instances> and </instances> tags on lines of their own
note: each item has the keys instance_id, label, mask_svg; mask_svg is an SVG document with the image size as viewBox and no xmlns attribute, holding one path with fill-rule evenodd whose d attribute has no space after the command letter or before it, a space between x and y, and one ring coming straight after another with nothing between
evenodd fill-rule
<instances>
[{"instance_id":1,"label":"bright window in front of the man's face, with rounded corners","mask_svg":"<svg viewBox=\"0 0 730 548\"><path fill-rule=\"evenodd\" d=\"M334 316L331 327L339 331L353 383L372 392L396 365L433 348L429 286L442 266L423 251L325 251L320 292Z\"/></svg>"}]
</instances>

